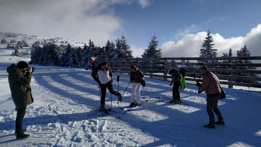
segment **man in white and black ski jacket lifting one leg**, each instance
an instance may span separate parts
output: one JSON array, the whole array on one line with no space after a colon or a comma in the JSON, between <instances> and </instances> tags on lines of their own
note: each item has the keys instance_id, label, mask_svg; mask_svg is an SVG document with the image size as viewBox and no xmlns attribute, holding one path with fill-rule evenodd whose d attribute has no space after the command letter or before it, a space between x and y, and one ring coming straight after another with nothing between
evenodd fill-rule
<instances>
[{"instance_id":1,"label":"man in white and black ski jacket lifting one leg","mask_svg":"<svg viewBox=\"0 0 261 147\"><path fill-rule=\"evenodd\" d=\"M121 93L113 89L112 71L108 64L104 61L93 70L92 77L97 83L99 83L99 87L102 92L100 111L108 113L107 109L105 109L106 88L111 94L118 96L118 100L122 102Z\"/></svg>"}]
</instances>

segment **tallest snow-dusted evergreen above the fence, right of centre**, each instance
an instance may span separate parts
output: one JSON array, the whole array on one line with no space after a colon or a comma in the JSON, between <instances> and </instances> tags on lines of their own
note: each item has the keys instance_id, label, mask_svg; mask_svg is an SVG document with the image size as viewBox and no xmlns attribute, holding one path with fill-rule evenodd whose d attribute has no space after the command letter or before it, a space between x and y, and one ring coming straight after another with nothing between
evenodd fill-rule
<instances>
[{"instance_id":1,"label":"tallest snow-dusted evergreen above the fence, right of centre","mask_svg":"<svg viewBox=\"0 0 261 147\"><path fill-rule=\"evenodd\" d=\"M211 35L211 32L207 32L207 37L205 37L206 40L204 40L204 42L202 43L202 47L200 49L200 56L199 57L216 57L217 56L217 49L213 49L213 45L212 44L213 38Z\"/></svg>"}]
</instances>

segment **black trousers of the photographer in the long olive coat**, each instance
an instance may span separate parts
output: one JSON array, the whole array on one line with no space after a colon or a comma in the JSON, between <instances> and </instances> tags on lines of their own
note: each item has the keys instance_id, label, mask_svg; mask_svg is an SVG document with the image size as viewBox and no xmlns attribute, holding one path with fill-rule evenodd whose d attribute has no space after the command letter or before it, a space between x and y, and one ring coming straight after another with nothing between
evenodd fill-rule
<instances>
[{"instance_id":1,"label":"black trousers of the photographer in the long olive coat","mask_svg":"<svg viewBox=\"0 0 261 147\"><path fill-rule=\"evenodd\" d=\"M15 119L15 132L17 134L22 133L23 118L25 116L25 113L26 113L26 105L17 110L16 119Z\"/></svg>"}]
</instances>

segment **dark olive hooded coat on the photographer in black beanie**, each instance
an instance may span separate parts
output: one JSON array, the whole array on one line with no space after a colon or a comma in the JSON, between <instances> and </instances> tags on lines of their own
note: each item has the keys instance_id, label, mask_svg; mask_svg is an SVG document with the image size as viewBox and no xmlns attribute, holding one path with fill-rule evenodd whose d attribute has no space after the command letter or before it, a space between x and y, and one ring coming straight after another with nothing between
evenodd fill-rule
<instances>
[{"instance_id":1,"label":"dark olive hooded coat on the photographer in black beanie","mask_svg":"<svg viewBox=\"0 0 261 147\"><path fill-rule=\"evenodd\" d=\"M15 64L7 67L8 82L11 89L12 99L14 101L15 110L22 106L32 104L34 102L31 93L30 82L32 73L24 74Z\"/></svg>"}]
</instances>

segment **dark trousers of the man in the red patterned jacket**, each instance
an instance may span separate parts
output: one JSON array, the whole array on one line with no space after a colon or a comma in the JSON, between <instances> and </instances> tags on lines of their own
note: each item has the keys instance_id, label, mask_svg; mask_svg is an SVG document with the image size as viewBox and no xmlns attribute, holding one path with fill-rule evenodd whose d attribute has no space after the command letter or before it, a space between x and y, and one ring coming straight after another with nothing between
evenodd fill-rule
<instances>
[{"instance_id":1,"label":"dark trousers of the man in the red patterned jacket","mask_svg":"<svg viewBox=\"0 0 261 147\"><path fill-rule=\"evenodd\" d=\"M218 120L223 120L223 117L218 109L218 100L220 98L219 96L207 96L206 101L207 101L207 106L206 106L206 111L209 115L209 124L215 124L215 114L218 116Z\"/></svg>"}]
</instances>

